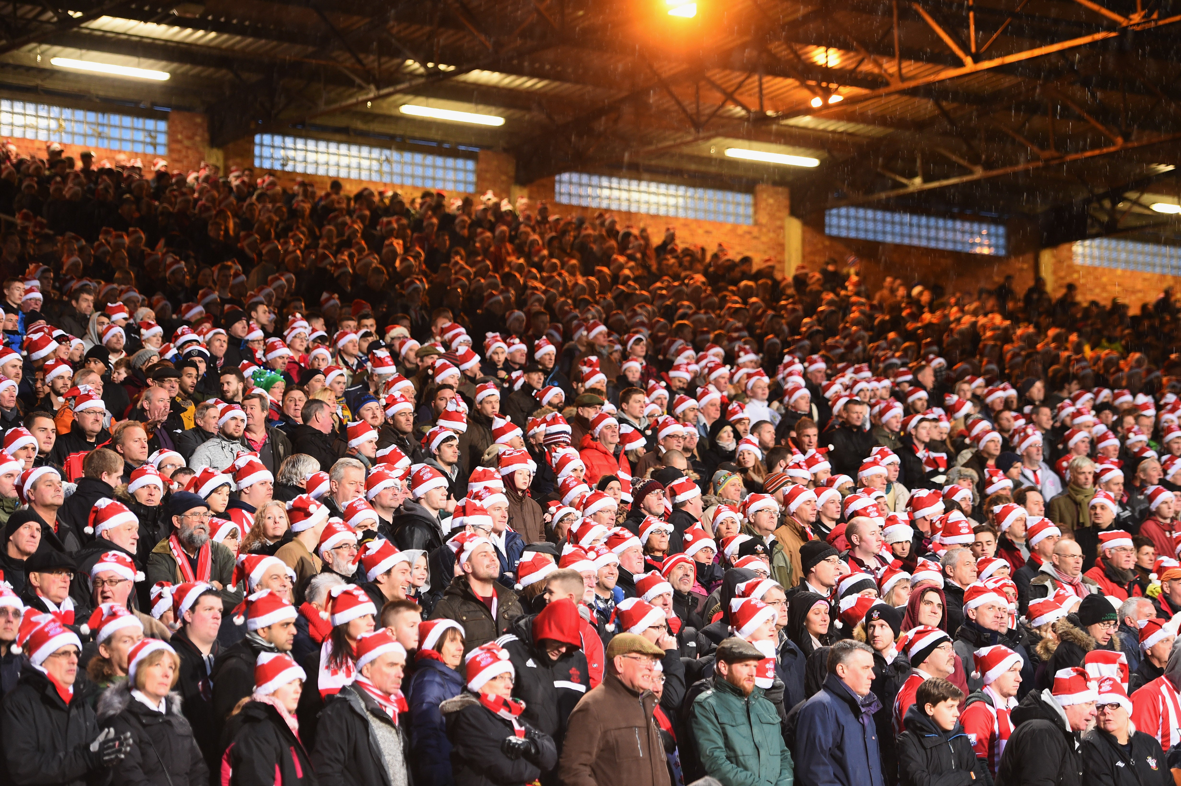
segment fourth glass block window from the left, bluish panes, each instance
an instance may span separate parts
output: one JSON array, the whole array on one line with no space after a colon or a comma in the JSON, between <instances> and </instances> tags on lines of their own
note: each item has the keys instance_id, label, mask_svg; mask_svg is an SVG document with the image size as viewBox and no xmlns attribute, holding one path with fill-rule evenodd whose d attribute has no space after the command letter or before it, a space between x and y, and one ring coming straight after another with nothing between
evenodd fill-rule
<instances>
[{"instance_id":1,"label":"fourth glass block window from the left, bluish panes","mask_svg":"<svg viewBox=\"0 0 1181 786\"><path fill-rule=\"evenodd\" d=\"M993 256L1004 256L1009 245L1004 224L869 208L826 210L824 234Z\"/></svg>"}]
</instances>

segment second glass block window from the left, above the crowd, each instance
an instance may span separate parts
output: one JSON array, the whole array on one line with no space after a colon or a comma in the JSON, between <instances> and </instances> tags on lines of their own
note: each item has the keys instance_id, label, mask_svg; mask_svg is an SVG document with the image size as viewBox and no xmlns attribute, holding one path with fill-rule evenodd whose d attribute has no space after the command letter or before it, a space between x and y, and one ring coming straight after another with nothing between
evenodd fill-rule
<instances>
[{"instance_id":1,"label":"second glass block window from the left, above the crowd","mask_svg":"<svg viewBox=\"0 0 1181 786\"><path fill-rule=\"evenodd\" d=\"M254 137L254 165L301 175L347 177L439 191L476 192L472 158L371 148L270 133Z\"/></svg>"}]
</instances>

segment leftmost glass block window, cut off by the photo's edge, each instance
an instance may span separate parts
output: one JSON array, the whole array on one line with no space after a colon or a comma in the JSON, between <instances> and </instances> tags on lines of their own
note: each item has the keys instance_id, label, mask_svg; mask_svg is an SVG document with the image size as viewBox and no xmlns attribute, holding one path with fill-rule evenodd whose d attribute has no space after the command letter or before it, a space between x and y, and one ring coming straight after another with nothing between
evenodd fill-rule
<instances>
[{"instance_id":1,"label":"leftmost glass block window, cut off by the photo's edge","mask_svg":"<svg viewBox=\"0 0 1181 786\"><path fill-rule=\"evenodd\" d=\"M168 120L0 100L0 137L168 155Z\"/></svg>"}]
</instances>

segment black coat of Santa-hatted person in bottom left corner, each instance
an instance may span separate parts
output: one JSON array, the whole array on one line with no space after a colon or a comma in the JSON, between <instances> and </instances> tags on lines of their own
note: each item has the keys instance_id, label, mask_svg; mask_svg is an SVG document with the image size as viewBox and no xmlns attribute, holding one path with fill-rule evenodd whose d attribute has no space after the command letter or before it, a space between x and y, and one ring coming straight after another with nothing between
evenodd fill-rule
<instances>
[{"instance_id":1,"label":"black coat of Santa-hatted person in bottom left corner","mask_svg":"<svg viewBox=\"0 0 1181 786\"><path fill-rule=\"evenodd\" d=\"M110 780L90 744L98 720L83 690L70 703L50 679L27 662L20 682L0 703L4 773L12 786L99 786Z\"/></svg>"}]
</instances>

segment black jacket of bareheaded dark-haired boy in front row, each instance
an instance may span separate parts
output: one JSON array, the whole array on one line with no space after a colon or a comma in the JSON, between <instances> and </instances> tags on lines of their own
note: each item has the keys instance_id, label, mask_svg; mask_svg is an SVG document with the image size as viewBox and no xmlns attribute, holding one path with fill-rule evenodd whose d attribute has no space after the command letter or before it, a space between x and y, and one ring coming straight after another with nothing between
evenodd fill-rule
<instances>
[{"instance_id":1,"label":"black jacket of bareheaded dark-haired boy in front row","mask_svg":"<svg viewBox=\"0 0 1181 786\"><path fill-rule=\"evenodd\" d=\"M942 731L918 702L906 710L902 722L906 731L898 738L901 786L972 786L973 779L985 782L984 765L959 723Z\"/></svg>"}]
</instances>

